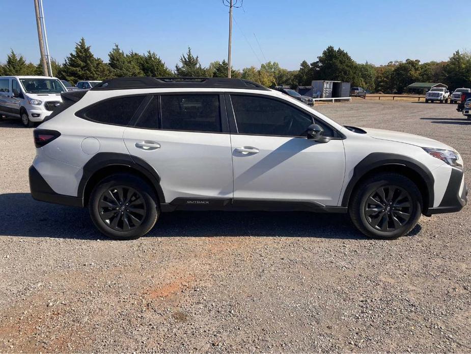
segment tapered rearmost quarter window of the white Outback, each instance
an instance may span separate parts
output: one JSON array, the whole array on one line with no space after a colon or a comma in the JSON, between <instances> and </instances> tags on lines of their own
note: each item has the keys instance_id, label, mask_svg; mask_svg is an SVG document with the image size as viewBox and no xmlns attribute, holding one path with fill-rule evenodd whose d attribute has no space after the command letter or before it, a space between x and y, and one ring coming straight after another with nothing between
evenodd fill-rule
<instances>
[{"instance_id":1,"label":"tapered rearmost quarter window of the white Outback","mask_svg":"<svg viewBox=\"0 0 471 354\"><path fill-rule=\"evenodd\" d=\"M106 99L77 112L80 118L99 123L127 125L145 96L128 96Z\"/></svg>"}]
</instances>

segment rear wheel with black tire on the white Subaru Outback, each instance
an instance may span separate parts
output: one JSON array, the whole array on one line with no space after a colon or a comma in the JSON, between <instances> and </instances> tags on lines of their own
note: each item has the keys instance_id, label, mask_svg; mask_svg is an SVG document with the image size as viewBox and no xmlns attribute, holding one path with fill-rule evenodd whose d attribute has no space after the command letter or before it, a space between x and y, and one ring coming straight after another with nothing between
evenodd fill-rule
<instances>
[{"instance_id":1,"label":"rear wheel with black tire on the white Subaru Outback","mask_svg":"<svg viewBox=\"0 0 471 354\"><path fill-rule=\"evenodd\" d=\"M153 189L141 178L117 173L95 186L89 211L102 234L115 240L133 240L152 229L160 215L160 205ZM107 215L109 220L105 220Z\"/></svg>"}]
</instances>

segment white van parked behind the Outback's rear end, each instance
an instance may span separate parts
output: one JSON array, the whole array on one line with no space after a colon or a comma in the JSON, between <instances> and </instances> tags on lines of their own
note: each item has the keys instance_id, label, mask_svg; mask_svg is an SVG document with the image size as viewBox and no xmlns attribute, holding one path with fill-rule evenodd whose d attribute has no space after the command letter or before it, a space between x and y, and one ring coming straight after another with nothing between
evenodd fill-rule
<instances>
[{"instance_id":1,"label":"white van parked behind the Outback's rear end","mask_svg":"<svg viewBox=\"0 0 471 354\"><path fill-rule=\"evenodd\" d=\"M62 103L67 92L57 78L47 76L0 77L0 115L21 118L25 127L42 122Z\"/></svg>"}]
</instances>

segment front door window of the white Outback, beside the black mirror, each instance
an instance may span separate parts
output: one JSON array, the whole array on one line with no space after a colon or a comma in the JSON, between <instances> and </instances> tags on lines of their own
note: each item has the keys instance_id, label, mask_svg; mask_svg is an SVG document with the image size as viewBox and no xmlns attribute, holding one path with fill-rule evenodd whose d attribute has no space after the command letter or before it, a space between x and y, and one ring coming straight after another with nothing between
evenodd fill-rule
<instances>
[{"instance_id":1,"label":"front door window of the white Outback, beside the black mirror","mask_svg":"<svg viewBox=\"0 0 471 354\"><path fill-rule=\"evenodd\" d=\"M239 134L306 136L313 117L276 99L231 95Z\"/></svg>"}]
</instances>

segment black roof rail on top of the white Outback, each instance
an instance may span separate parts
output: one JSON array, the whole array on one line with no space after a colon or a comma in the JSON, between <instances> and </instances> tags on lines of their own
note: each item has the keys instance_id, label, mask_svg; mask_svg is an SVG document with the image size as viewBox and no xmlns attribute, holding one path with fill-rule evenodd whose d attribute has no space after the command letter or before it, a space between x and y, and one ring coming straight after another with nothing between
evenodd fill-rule
<instances>
[{"instance_id":1,"label":"black roof rail on top of the white Outback","mask_svg":"<svg viewBox=\"0 0 471 354\"><path fill-rule=\"evenodd\" d=\"M142 88L238 88L268 90L265 86L243 79L229 78L151 78L133 77L105 80L92 91L127 90Z\"/></svg>"}]
</instances>

